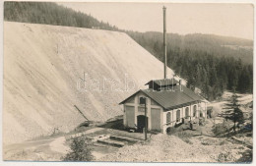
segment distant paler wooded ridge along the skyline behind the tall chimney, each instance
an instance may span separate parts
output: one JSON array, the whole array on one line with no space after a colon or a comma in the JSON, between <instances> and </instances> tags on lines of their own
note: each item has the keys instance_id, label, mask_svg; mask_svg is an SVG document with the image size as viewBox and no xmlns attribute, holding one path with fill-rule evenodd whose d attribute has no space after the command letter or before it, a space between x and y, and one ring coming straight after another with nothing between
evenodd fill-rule
<instances>
[{"instance_id":1,"label":"distant paler wooded ridge along the skyline behind the tall chimney","mask_svg":"<svg viewBox=\"0 0 256 166\"><path fill-rule=\"evenodd\" d=\"M162 57L162 33L161 32L135 32L128 33L142 46ZM168 51L177 53L181 50L190 50L192 52L203 51L214 54L217 57L234 57L241 59L246 64L252 64L253 41L242 38L219 36L214 34L187 34L179 35L167 33Z\"/></svg>"}]
</instances>

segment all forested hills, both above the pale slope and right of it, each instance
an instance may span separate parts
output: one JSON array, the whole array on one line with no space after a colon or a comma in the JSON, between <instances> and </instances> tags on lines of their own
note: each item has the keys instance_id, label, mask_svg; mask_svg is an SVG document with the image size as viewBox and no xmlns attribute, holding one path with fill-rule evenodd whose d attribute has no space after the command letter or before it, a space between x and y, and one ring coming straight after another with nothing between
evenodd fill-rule
<instances>
[{"instance_id":1,"label":"all forested hills, both above the pale slope and right of it","mask_svg":"<svg viewBox=\"0 0 256 166\"><path fill-rule=\"evenodd\" d=\"M118 29L90 15L50 2L5 2L5 21L79 28L101 28L127 32L135 41L162 61L162 33ZM167 34L167 65L202 89L209 99L225 89L252 92L253 41L210 34ZM128 58L128 57L127 57Z\"/></svg>"}]
</instances>

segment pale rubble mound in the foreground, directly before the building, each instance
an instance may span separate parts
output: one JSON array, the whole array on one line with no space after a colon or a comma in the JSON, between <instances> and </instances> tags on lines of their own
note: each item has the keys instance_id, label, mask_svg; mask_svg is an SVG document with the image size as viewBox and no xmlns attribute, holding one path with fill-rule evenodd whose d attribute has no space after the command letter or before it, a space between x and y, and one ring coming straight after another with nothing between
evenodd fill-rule
<instances>
[{"instance_id":1,"label":"pale rubble mound in the foreground, directly before the building","mask_svg":"<svg viewBox=\"0 0 256 166\"><path fill-rule=\"evenodd\" d=\"M211 121L211 120L209 120ZM216 138L213 123L208 123L200 132L185 131L176 136L153 135L146 142L119 148L100 161L129 162L236 162L242 153L250 150L246 145ZM202 136L198 135L203 133Z\"/></svg>"}]
</instances>

